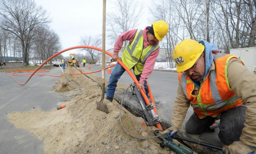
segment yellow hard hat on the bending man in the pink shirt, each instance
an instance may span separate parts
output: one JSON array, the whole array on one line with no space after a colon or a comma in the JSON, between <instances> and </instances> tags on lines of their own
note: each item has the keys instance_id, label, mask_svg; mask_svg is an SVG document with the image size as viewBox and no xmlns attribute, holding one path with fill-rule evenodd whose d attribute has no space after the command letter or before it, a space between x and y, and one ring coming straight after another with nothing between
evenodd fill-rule
<instances>
[{"instance_id":1,"label":"yellow hard hat on the bending man in the pink shirt","mask_svg":"<svg viewBox=\"0 0 256 154\"><path fill-rule=\"evenodd\" d=\"M168 24L164 20L159 20L153 23L155 37L158 41L162 41L168 32Z\"/></svg>"}]
</instances>

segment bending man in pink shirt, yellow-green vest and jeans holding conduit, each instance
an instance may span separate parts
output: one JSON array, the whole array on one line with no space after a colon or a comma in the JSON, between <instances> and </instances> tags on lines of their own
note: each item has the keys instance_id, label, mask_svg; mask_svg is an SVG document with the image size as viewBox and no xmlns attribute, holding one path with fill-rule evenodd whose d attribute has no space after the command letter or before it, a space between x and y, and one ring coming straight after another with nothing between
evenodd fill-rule
<instances>
[{"instance_id":1,"label":"bending man in pink shirt, yellow-green vest and jeans holding conduit","mask_svg":"<svg viewBox=\"0 0 256 154\"><path fill-rule=\"evenodd\" d=\"M116 40L112 59L115 61L119 59L118 53L123 41L129 41L129 45L122 53L121 60L129 69L133 69L135 77L140 83L139 89L146 90L146 95L148 95L148 91L145 80L150 77L153 71L155 60L159 54L159 41L162 41L167 32L168 24L159 20L154 22L152 26L145 27L144 30L133 29L124 32ZM112 102L118 79L124 72L125 69L117 63L107 85L107 100Z\"/></svg>"}]
</instances>

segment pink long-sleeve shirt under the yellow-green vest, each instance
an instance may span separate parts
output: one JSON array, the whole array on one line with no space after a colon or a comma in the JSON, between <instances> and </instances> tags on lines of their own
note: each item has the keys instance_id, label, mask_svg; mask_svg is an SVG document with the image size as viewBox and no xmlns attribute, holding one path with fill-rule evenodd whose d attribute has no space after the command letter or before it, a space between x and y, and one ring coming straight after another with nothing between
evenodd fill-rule
<instances>
[{"instance_id":1,"label":"pink long-sleeve shirt under the yellow-green vest","mask_svg":"<svg viewBox=\"0 0 256 154\"><path fill-rule=\"evenodd\" d=\"M150 42L148 42L148 39L147 39L148 28L149 27L145 27L145 29L143 30L143 39L144 39L143 49L147 48L150 45ZM120 36L118 36L116 43L114 45L114 53L113 54L118 55L119 50L121 50L121 47L122 47L124 41L130 41L130 43L131 43L135 37L136 31L137 31L137 29L133 29L133 30L124 32ZM159 44L159 41L157 41L154 45L157 45L157 44ZM159 54L159 48L157 50L155 50L154 52L152 52L150 54L150 56L147 58L147 60L145 61L145 65L144 65L143 71L140 76L140 81L139 81L141 84L144 84L145 80L150 77L150 75L154 69L155 61L156 61L158 54Z\"/></svg>"}]
</instances>

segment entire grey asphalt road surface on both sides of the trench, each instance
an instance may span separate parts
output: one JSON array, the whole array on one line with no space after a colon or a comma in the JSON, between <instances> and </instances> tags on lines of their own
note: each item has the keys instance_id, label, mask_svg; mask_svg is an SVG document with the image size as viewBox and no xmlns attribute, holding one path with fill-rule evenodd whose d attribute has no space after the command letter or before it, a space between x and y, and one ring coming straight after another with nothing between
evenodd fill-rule
<instances>
[{"instance_id":1,"label":"entire grey asphalt road surface on both sides of the trench","mask_svg":"<svg viewBox=\"0 0 256 154\"><path fill-rule=\"evenodd\" d=\"M85 68L88 68L88 65ZM101 66L91 65L90 71L96 70L101 70ZM54 68L45 74L59 75L61 70ZM101 72L96 74L101 77ZM28 77L15 76L21 83L24 83ZM109 77L110 74L106 73L106 79ZM29 131L16 129L8 121L6 115L11 112L31 111L38 108L43 111L56 108L62 98L51 91L51 85L58 81L58 77L34 76L24 86L20 86L12 78L5 76L3 72L0 72L0 78L0 154L43 154L43 141L32 136ZM129 85L133 81L125 72L119 82ZM158 104L159 117L170 121L177 95L178 73L154 71L148 82L155 102ZM190 108L186 120L191 113Z\"/></svg>"}]
</instances>

